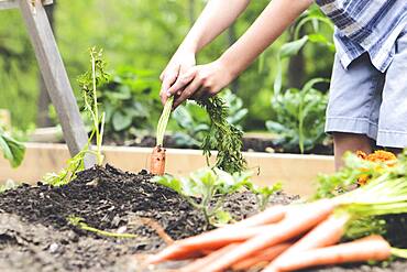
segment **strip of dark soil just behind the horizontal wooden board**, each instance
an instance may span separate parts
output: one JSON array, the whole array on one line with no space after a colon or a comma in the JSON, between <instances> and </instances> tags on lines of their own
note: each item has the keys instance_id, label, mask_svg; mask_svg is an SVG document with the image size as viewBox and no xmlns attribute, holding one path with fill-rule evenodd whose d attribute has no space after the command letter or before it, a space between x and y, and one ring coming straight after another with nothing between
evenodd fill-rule
<instances>
[{"instance_id":1,"label":"strip of dark soil just behind the horizontal wooden board","mask_svg":"<svg viewBox=\"0 0 407 272\"><path fill-rule=\"evenodd\" d=\"M130 146L141 146L141 148L152 148L155 145L155 137L146 135L142 138L136 138L133 141L121 142L116 140L109 140L109 144L117 145L130 145ZM177 142L174 137L166 135L164 139L165 146L168 149L199 149L199 146L190 146ZM261 139L261 138L243 138L243 151L249 152L275 152L275 153L294 153L298 154L299 149L285 150L283 146L275 144L272 139ZM306 152L307 154L319 154L319 155L332 155L332 145L318 144L312 150Z\"/></svg>"}]
</instances>

